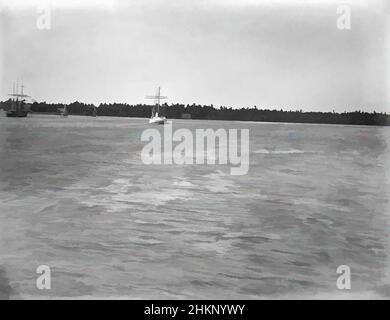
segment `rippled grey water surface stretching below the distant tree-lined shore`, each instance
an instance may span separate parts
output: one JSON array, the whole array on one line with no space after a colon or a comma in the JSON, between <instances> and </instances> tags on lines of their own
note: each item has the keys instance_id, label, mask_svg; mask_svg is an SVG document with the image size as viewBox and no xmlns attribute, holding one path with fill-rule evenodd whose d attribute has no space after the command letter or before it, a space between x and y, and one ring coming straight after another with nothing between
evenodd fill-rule
<instances>
[{"instance_id":1,"label":"rippled grey water surface stretching below the distant tree-lined shore","mask_svg":"<svg viewBox=\"0 0 390 320\"><path fill-rule=\"evenodd\" d=\"M1 298L389 297L389 128L174 121L249 128L231 176L143 165L146 123L0 117Z\"/></svg>"}]
</instances>

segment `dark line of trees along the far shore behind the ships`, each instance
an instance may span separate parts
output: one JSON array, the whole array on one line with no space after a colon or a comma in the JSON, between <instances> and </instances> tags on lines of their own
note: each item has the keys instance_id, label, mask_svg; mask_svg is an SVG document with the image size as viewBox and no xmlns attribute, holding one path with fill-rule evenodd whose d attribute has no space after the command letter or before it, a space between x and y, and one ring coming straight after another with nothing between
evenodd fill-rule
<instances>
[{"instance_id":1,"label":"dark line of trees along the far shore behind the ships","mask_svg":"<svg viewBox=\"0 0 390 320\"><path fill-rule=\"evenodd\" d=\"M4 108L10 101L1 102L0 106ZM46 102L34 102L31 105L32 112L57 113L58 109L63 108L64 104L51 104ZM96 108L93 104L82 102L73 102L67 105L69 114L74 115L92 115ZM140 117L149 118L151 115L151 105L126 103L101 103L97 108L99 116L116 117ZM355 124L355 125L389 125L390 115L386 113L368 113L362 111L354 112L302 112L268 110L253 108L233 109L220 107L214 108L213 105L184 105L184 104L164 104L160 108L160 115L168 119L181 119L183 115L190 115L191 119L208 120L241 120L241 121L268 121L268 122L296 122L296 123L331 123L331 124Z\"/></svg>"}]
</instances>

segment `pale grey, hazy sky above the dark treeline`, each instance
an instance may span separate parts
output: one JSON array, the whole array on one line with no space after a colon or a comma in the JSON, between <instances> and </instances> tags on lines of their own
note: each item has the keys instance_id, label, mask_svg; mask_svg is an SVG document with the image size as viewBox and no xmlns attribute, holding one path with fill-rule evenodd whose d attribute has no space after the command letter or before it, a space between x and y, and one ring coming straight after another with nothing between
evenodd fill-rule
<instances>
[{"instance_id":1,"label":"pale grey, hazy sky above the dark treeline","mask_svg":"<svg viewBox=\"0 0 390 320\"><path fill-rule=\"evenodd\" d=\"M351 29L337 8L351 8ZM43 7L42 7L43 6ZM42 8L50 29L40 30ZM0 99L390 112L385 0L0 0Z\"/></svg>"}]
</instances>

